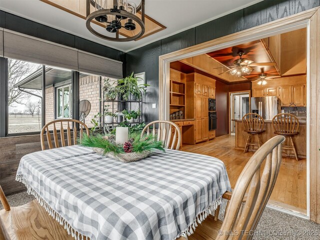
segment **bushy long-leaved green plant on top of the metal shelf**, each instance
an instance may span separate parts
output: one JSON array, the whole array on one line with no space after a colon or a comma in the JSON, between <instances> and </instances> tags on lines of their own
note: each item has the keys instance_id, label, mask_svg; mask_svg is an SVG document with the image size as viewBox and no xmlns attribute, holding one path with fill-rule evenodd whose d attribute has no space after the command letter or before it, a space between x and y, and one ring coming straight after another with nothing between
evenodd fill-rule
<instances>
[{"instance_id":1,"label":"bushy long-leaved green plant on top of the metal shelf","mask_svg":"<svg viewBox=\"0 0 320 240\"><path fill-rule=\"evenodd\" d=\"M142 92L145 92L145 87L148 84L138 84L140 77L134 77L133 72L131 75L126 76L117 81L117 90L122 96L123 100L140 100Z\"/></svg>"}]
</instances>

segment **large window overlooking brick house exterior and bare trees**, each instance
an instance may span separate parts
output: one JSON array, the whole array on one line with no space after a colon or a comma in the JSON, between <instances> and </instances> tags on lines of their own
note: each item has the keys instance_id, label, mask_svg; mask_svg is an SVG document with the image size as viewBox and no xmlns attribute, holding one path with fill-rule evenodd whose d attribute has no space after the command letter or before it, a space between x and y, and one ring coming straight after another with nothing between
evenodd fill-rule
<instances>
[{"instance_id":1,"label":"large window overlooking brick house exterior and bare trees","mask_svg":"<svg viewBox=\"0 0 320 240\"><path fill-rule=\"evenodd\" d=\"M102 88L108 77L76 71L72 74L69 69L13 58L0 57L0 60L8 62L8 112L5 117L4 114L1 116L6 127L0 136L37 134L44 124L54 119L77 115L88 127L96 126L95 122L101 126L101 111L112 107L105 102L103 106ZM74 85L74 82L79 85ZM74 95L77 92L78 99ZM78 114L74 112L75 102L79 102ZM1 103L4 108L6 103ZM115 102L113 109L117 107Z\"/></svg>"}]
</instances>

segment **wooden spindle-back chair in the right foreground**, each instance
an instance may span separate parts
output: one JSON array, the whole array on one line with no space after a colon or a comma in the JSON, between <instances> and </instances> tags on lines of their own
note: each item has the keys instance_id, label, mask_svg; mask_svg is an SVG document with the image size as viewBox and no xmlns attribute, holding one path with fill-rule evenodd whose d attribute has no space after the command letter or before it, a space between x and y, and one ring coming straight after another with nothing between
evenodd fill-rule
<instances>
[{"instance_id":1,"label":"wooden spindle-back chair in the right foreground","mask_svg":"<svg viewBox=\"0 0 320 240\"><path fill-rule=\"evenodd\" d=\"M194 233L188 236L188 240L225 240L231 231L234 234L232 240L252 238L252 235L247 233L256 228L271 195L280 169L281 146L284 140L284 136L274 136L256 150L241 171L234 190L222 195L223 198L230 199L223 222L215 221L213 216L209 215L209 219L198 225ZM182 236L178 238L184 239Z\"/></svg>"}]
</instances>

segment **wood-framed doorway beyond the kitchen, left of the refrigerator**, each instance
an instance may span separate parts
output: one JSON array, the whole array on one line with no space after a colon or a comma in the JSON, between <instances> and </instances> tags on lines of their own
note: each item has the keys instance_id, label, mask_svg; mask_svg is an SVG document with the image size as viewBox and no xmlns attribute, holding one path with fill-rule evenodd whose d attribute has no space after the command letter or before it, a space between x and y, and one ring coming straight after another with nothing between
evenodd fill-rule
<instances>
[{"instance_id":1,"label":"wood-framed doorway beyond the kitchen, left of the refrigerator","mask_svg":"<svg viewBox=\"0 0 320 240\"><path fill-rule=\"evenodd\" d=\"M250 91L229 92L229 126L230 134L235 134L235 122L250 112Z\"/></svg>"}]
</instances>

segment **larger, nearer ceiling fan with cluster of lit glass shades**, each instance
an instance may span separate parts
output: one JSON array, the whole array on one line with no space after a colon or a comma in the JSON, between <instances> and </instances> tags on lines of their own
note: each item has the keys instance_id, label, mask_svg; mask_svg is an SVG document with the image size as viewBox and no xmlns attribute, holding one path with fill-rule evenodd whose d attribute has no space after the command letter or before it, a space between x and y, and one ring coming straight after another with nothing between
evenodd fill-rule
<instances>
[{"instance_id":1,"label":"larger, nearer ceiling fan with cluster of lit glass shades","mask_svg":"<svg viewBox=\"0 0 320 240\"><path fill-rule=\"evenodd\" d=\"M231 75L241 76L242 73L249 75L253 70L253 68L251 66L274 66L274 65L276 65L275 62L254 62L254 61L251 61L247 58L242 58L243 54L244 54L243 51L239 51L237 53L239 58L237 58L233 61L233 66L227 66L230 69L223 71L220 74L223 74L223 73L229 71ZM217 68L219 68L219 67L217 67Z\"/></svg>"}]
</instances>

